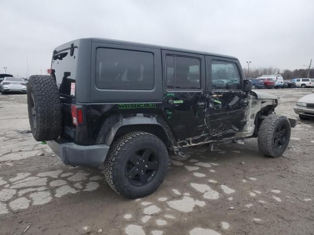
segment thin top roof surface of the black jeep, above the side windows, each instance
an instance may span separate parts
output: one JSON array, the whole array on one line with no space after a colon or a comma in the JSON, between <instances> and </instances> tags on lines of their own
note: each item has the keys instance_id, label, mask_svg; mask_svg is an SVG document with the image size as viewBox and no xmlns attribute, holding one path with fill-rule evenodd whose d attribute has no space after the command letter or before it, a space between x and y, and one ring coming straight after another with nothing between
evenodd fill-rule
<instances>
[{"instance_id":1,"label":"thin top roof surface of the black jeep, above the side windows","mask_svg":"<svg viewBox=\"0 0 314 235\"><path fill-rule=\"evenodd\" d=\"M136 42L129 42L129 41L121 41L121 40L114 40L114 39L106 39L106 38L81 38L78 40L74 40L71 42L66 43L66 45L69 45L69 43L78 43L79 40L91 40L92 42L98 42L98 43L110 43L110 44L119 44L119 45L126 45L126 46L135 46L135 47L148 47L148 48L155 48L155 49L164 49L164 50L174 50L174 51L180 51L180 52L188 52L188 53L194 53L194 54L202 54L202 55L211 55L211 56L219 56L229 59L235 59L234 56L229 55L222 55L222 54L216 54L216 53L210 53L206 51L199 51L199 50L190 50L190 49L183 49L183 48L176 48L176 47L164 47L164 46L158 46L153 44L145 44L145 43L136 43ZM60 47L57 47L58 49Z\"/></svg>"}]
</instances>

